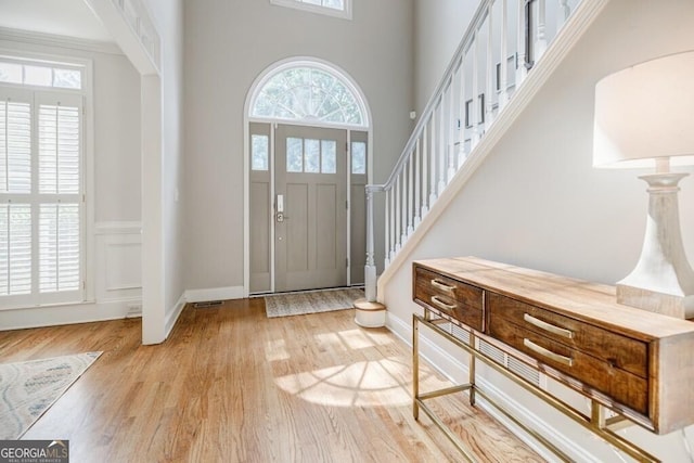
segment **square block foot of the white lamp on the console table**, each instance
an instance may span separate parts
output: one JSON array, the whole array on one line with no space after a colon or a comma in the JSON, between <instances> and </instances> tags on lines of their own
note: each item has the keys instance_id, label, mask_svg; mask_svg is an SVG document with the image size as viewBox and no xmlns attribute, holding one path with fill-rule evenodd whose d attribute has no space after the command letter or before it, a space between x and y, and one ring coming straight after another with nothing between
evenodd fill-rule
<instances>
[{"instance_id":1,"label":"square block foot of the white lamp on the console table","mask_svg":"<svg viewBox=\"0 0 694 463\"><path fill-rule=\"evenodd\" d=\"M678 319L694 318L694 295L674 296L643 287L617 284L617 303Z\"/></svg>"}]
</instances>

